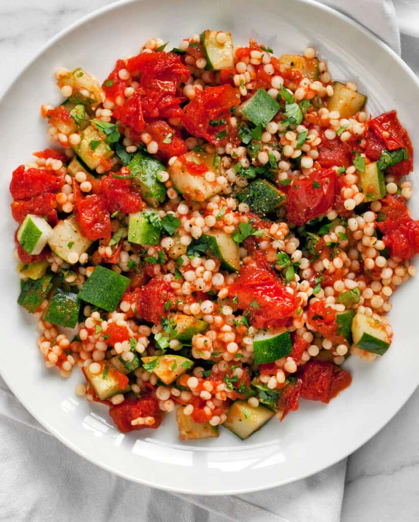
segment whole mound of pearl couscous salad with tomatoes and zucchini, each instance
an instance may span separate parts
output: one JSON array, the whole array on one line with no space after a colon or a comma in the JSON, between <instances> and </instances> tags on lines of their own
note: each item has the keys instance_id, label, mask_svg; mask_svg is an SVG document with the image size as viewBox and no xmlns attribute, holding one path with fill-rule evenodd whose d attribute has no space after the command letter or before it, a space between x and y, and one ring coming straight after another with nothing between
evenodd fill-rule
<instances>
[{"instance_id":1,"label":"whole mound of pearl couscous salad with tomatoes and zucchini","mask_svg":"<svg viewBox=\"0 0 419 522\"><path fill-rule=\"evenodd\" d=\"M176 409L180 440L245 439L388 350L419 252L413 149L311 47L205 30L168 48L147 41L102 84L57 70L57 147L10 183L18 302L46 366L79 366L76 393L121 432Z\"/></svg>"}]
</instances>

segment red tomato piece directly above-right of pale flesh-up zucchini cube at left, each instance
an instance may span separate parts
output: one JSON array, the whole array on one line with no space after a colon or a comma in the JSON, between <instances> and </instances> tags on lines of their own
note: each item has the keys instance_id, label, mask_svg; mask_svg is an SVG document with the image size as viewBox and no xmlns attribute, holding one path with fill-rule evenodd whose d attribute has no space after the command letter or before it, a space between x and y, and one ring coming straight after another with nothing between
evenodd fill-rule
<instances>
[{"instance_id":1,"label":"red tomato piece directly above-right of pale flesh-up zucchini cube at left","mask_svg":"<svg viewBox=\"0 0 419 522\"><path fill-rule=\"evenodd\" d=\"M95 241L110 237L112 232L110 217L106 197L103 194L95 194L78 200L75 214L85 238Z\"/></svg>"}]
</instances>

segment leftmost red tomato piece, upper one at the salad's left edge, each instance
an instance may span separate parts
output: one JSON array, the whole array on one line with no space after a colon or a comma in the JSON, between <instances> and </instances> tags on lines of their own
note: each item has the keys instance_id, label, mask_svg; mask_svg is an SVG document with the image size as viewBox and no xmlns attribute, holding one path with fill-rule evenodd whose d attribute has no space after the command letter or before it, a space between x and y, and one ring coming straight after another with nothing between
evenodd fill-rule
<instances>
[{"instance_id":1,"label":"leftmost red tomato piece, upper one at the salad's left edge","mask_svg":"<svg viewBox=\"0 0 419 522\"><path fill-rule=\"evenodd\" d=\"M63 184L63 175L57 176L42 169L24 170L24 165L19 165L12 174L10 194L13 199L29 199L47 192L59 192Z\"/></svg>"}]
</instances>

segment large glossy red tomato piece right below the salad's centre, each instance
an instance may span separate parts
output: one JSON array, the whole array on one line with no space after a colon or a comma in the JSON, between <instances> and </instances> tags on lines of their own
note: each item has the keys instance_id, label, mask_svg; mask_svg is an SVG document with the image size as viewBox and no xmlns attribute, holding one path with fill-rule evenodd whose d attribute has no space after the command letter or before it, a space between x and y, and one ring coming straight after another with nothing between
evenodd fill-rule
<instances>
[{"instance_id":1,"label":"large glossy red tomato piece right below the salad's centre","mask_svg":"<svg viewBox=\"0 0 419 522\"><path fill-rule=\"evenodd\" d=\"M230 286L229 296L236 295L240 309L250 313L256 328L284 326L299 303L297 295L290 294L272 271L254 264L243 266Z\"/></svg>"}]
</instances>

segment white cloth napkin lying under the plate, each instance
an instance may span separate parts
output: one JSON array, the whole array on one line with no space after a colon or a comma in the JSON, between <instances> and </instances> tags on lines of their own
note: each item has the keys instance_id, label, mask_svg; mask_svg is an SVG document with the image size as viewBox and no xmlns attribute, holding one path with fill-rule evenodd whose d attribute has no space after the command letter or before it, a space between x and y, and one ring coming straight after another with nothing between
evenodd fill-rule
<instances>
[{"instance_id":1,"label":"white cloth napkin lying under the plate","mask_svg":"<svg viewBox=\"0 0 419 522\"><path fill-rule=\"evenodd\" d=\"M95 7L108 3L112 2L102 0ZM395 0L395 5L391 0L324 0L324 3L367 26L397 53L402 50L403 57L419 73L416 40L419 0ZM88 8L83 11L82 2L73 1L72 6L81 8L78 16L88 12ZM64 26L65 22L61 24ZM401 39L399 27L404 33ZM37 30L41 28L33 29ZM338 522L340 519L346 459L313 477L263 492L225 497L171 494L120 479L71 452L33 419L1 378L0 419L0 520Z\"/></svg>"}]
</instances>

